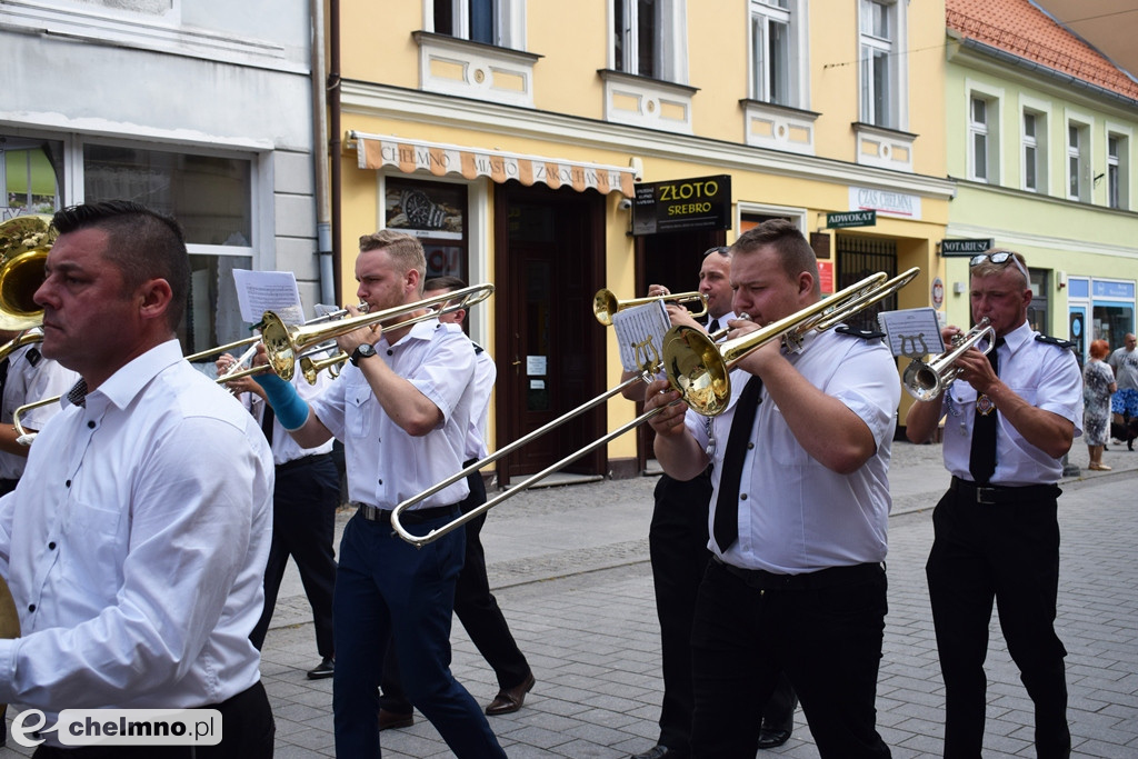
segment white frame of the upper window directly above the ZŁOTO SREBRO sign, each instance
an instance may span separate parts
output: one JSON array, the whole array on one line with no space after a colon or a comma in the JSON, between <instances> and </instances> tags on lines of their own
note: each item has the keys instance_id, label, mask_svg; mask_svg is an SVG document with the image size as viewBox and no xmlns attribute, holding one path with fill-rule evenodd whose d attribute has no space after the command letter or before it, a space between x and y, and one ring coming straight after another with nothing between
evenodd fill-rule
<instances>
[{"instance_id":1,"label":"white frame of the upper window directly above the Z\u0141OTO SREBRO sign","mask_svg":"<svg viewBox=\"0 0 1138 759\"><path fill-rule=\"evenodd\" d=\"M616 3L620 3L627 28L617 28ZM687 0L657 0L660 26L657 28L657 69L651 79L687 84ZM635 76L642 74L638 61L638 14L637 0L610 0L609 30L609 68ZM622 59L617 59L616 40L622 41Z\"/></svg>"}]
</instances>

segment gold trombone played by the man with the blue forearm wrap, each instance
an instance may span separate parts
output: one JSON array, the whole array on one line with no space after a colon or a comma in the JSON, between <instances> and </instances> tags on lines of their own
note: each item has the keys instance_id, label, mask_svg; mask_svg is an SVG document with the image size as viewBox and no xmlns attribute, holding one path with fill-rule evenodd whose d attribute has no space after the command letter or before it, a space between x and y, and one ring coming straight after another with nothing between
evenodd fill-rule
<instances>
[{"instance_id":1,"label":"gold trombone played by the man with the blue forearm wrap","mask_svg":"<svg viewBox=\"0 0 1138 759\"><path fill-rule=\"evenodd\" d=\"M266 311L262 320L261 339L265 344L269 363L272 365L273 371L281 379L290 380L292 379L292 373L296 371L297 356L300 356L321 343L335 339L340 335L347 335L362 327L382 324L401 316L409 316L409 319L394 324L384 324L384 329L399 329L462 308L469 310L470 306L481 303L493 294L494 286L488 282L473 284L461 290L444 292L432 298L423 298L422 300L395 306L394 308L385 308L374 313L360 314L358 316L319 325L289 325L281 321L280 316L273 312ZM435 308L439 304L445 304L445 306ZM415 313L423 310L426 310L423 313ZM344 361L347 361L347 356L340 353L338 363L343 363Z\"/></svg>"}]
</instances>

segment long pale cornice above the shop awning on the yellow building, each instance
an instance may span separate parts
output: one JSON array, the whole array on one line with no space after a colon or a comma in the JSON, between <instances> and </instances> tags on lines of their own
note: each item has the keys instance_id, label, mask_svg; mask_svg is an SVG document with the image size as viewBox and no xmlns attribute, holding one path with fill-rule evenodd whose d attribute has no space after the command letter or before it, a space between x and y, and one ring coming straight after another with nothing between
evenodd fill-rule
<instances>
[{"instance_id":1,"label":"long pale cornice above the shop awning on the yellow building","mask_svg":"<svg viewBox=\"0 0 1138 759\"><path fill-rule=\"evenodd\" d=\"M343 113L346 114L397 117L411 123L484 132L495 138L510 135L546 139L575 147L629 154L630 157L695 162L706 164L715 171L751 171L841 185L881 187L893 192L907 192L938 200L948 200L955 195L953 181L943 178L860 166L832 158L754 148L739 142L646 130L552 112L500 106L357 80L344 80L340 105ZM497 141L492 140L485 147L496 145Z\"/></svg>"}]
</instances>

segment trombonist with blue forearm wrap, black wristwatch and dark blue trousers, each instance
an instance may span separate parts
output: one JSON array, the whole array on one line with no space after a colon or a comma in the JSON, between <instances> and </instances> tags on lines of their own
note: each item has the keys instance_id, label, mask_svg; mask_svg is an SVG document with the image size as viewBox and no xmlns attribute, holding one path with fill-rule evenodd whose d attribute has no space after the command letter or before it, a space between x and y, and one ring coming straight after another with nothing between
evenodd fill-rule
<instances>
[{"instance_id":1,"label":"trombonist with blue forearm wrap, black wristwatch and dark blue trousers","mask_svg":"<svg viewBox=\"0 0 1138 759\"><path fill-rule=\"evenodd\" d=\"M357 295L371 314L422 299L426 270L413 237L382 230L360 239ZM428 319L390 330L372 322L340 335L337 344L351 365L310 403L279 377L257 378L302 446L332 436L344 443L356 514L340 541L333 601L336 751L379 757L377 688L394 635L406 694L451 750L459 757L504 757L486 717L450 669L463 534L417 548L390 526L391 510L404 498L462 469L475 376L470 340L459 325ZM440 527L459 514L468 493L467 481L459 480L409 509L403 523L423 531Z\"/></svg>"}]
</instances>

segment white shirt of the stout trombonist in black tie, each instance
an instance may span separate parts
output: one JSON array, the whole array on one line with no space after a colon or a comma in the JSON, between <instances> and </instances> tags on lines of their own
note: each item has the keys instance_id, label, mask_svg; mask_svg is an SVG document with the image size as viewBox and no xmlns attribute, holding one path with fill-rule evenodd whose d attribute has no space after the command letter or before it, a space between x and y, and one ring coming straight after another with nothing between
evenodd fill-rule
<instances>
[{"instance_id":1,"label":"white shirt of the stout trombonist in black tie","mask_svg":"<svg viewBox=\"0 0 1138 759\"><path fill-rule=\"evenodd\" d=\"M740 478L739 539L725 553L714 538L708 547L729 564L780 575L883 561L892 505L887 473L901 394L893 357L880 341L831 330L807 335L802 352L786 358L811 385L856 413L877 449L850 475L826 469L799 445L764 388L750 436L756 445L745 454ZM708 420L687 412L687 429L700 445L708 445L709 434L717 440L708 518L712 535L731 423L750 377L732 372L731 405L723 414Z\"/></svg>"}]
</instances>

